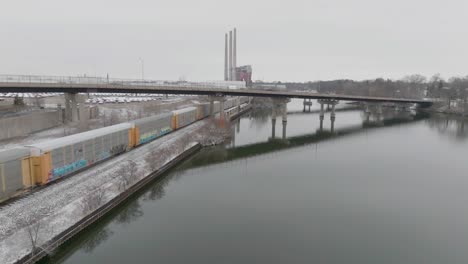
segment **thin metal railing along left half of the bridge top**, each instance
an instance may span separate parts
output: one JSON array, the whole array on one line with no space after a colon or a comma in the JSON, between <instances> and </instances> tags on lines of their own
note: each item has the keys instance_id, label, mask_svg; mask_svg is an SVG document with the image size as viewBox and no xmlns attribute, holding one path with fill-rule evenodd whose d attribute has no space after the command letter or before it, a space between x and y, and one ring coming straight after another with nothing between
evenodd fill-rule
<instances>
[{"instance_id":1,"label":"thin metal railing along left half of the bridge top","mask_svg":"<svg viewBox=\"0 0 468 264\"><path fill-rule=\"evenodd\" d=\"M228 85L215 85L197 82L185 81L162 81L162 80L143 80L143 79L116 79L107 77L89 77L89 76L43 76L43 75L1 75L0 83L29 83L29 84L63 84L63 85L79 85L79 84L96 84L96 85L112 85L125 87L190 87L190 88L211 88L211 89L227 89ZM232 85L231 85L232 86ZM241 88L241 87L238 87Z\"/></svg>"}]
</instances>

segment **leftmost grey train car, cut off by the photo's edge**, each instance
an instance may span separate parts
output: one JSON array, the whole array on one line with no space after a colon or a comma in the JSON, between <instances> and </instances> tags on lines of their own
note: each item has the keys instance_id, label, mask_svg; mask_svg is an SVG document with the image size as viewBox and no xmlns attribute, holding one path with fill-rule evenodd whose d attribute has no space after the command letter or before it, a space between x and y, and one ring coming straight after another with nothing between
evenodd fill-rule
<instances>
[{"instance_id":1,"label":"leftmost grey train car, cut off by the photo's edge","mask_svg":"<svg viewBox=\"0 0 468 264\"><path fill-rule=\"evenodd\" d=\"M22 147L0 152L0 201L33 184L29 153Z\"/></svg>"}]
</instances>

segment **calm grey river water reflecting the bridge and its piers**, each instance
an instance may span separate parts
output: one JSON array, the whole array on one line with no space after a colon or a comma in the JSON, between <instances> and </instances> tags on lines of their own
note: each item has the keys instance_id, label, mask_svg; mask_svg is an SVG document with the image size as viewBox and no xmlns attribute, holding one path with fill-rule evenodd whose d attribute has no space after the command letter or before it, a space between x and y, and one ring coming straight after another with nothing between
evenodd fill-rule
<instances>
[{"instance_id":1,"label":"calm grey river water reflecting the bridge and its piers","mask_svg":"<svg viewBox=\"0 0 468 264\"><path fill-rule=\"evenodd\" d=\"M243 116L43 263L468 263L468 122L348 107Z\"/></svg>"}]
</instances>

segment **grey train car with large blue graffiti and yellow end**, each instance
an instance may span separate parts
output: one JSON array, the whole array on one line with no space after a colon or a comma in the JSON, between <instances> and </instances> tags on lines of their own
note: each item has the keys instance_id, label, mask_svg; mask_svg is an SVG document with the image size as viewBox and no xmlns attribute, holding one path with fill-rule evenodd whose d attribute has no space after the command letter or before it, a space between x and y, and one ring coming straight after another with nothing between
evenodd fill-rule
<instances>
[{"instance_id":1,"label":"grey train car with large blue graffiti and yellow end","mask_svg":"<svg viewBox=\"0 0 468 264\"><path fill-rule=\"evenodd\" d=\"M123 123L27 146L36 183L54 181L126 151L134 145L132 131L132 124Z\"/></svg>"}]
</instances>

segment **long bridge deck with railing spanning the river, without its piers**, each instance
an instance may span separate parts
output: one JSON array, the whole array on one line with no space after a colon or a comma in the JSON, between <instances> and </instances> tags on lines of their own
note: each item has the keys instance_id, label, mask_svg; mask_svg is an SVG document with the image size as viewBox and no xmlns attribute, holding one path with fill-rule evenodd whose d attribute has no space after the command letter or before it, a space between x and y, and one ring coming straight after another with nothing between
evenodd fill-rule
<instances>
[{"instance_id":1,"label":"long bridge deck with railing spanning the river, without its piers","mask_svg":"<svg viewBox=\"0 0 468 264\"><path fill-rule=\"evenodd\" d=\"M429 107L431 101L405 98L320 94L298 91L229 89L226 86L150 80L125 80L95 77L0 75L0 93L145 93L211 96L250 96L271 98L322 99L371 103L418 104Z\"/></svg>"}]
</instances>

